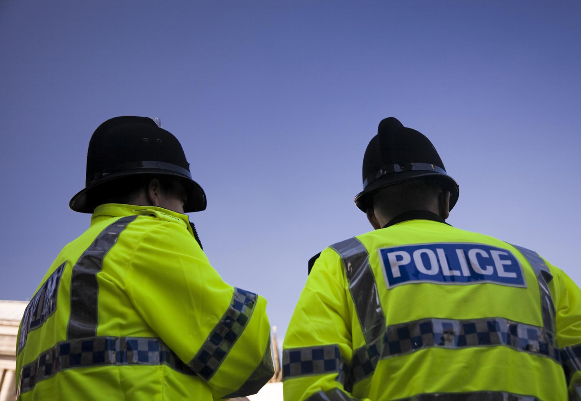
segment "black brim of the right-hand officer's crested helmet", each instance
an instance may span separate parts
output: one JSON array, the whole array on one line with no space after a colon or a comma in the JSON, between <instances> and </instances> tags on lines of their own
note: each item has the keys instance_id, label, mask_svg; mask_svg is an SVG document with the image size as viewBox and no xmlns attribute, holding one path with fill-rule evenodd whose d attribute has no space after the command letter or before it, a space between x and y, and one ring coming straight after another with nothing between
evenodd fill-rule
<instances>
[{"instance_id":1,"label":"black brim of the right-hand officer's crested helmet","mask_svg":"<svg viewBox=\"0 0 581 401\"><path fill-rule=\"evenodd\" d=\"M460 187L454 178L447 176L437 171L425 171L425 170L414 170L414 171L404 171L395 174L388 174L377 180L371 182L367 187L359 192L355 196L355 205L363 213L367 213L368 207L371 205L371 200L373 195L379 191L379 189L390 187L394 184L399 184L400 182L415 180L421 177L433 177L438 180L444 191L450 191L450 207L449 210L456 205L458 202L458 196L460 195Z\"/></svg>"}]
</instances>

